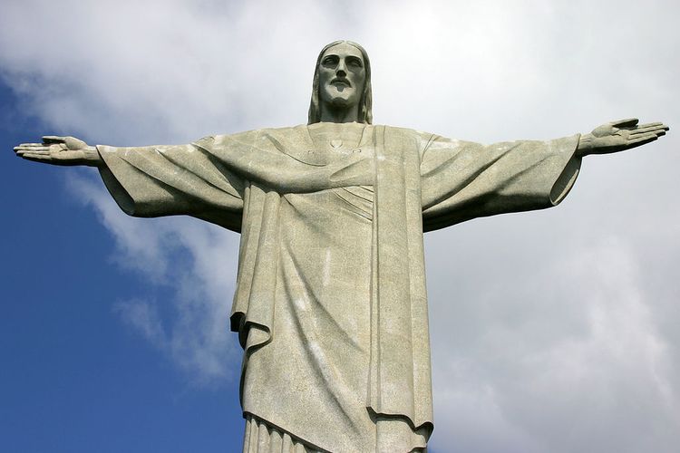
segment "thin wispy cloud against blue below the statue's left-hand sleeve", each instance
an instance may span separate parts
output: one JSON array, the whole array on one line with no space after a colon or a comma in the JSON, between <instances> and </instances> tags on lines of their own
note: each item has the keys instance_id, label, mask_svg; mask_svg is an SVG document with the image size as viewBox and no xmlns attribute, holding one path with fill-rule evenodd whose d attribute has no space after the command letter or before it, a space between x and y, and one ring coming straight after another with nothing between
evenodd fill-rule
<instances>
[{"instance_id":1,"label":"thin wispy cloud against blue below the statue's left-hand sleeve","mask_svg":"<svg viewBox=\"0 0 680 453\"><path fill-rule=\"evenodd\" d=\"M69 192L94 207L111 232L117 251L114 261L169 298L158 302L155 296L136 296L115 302L114 312L195 383L236 379L238 367L233 363L240 358L228 332L228 315L238 237L188 217L121 216L101 182L87 173L68 180Z\"/></svg>"}]
</instances>

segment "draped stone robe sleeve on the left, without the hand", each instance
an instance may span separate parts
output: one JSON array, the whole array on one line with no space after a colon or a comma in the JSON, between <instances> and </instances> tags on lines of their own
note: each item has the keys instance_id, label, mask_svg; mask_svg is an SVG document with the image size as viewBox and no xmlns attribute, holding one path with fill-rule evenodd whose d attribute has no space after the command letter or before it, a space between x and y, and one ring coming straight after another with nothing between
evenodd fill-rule
<instances>
[{"instance_id":1,"label":"draped stone robe sleeve on the left, without the hand","mask_svg":"<svg viewBox=\"0 0 680 453\"><path fill-rule=\"evenodd\" d=\"M189 145L97 146L100 174L123 212L134 217L188 215L239 232L244 181L207 149L212 137Z\"/></svg>"}]
</instances>

